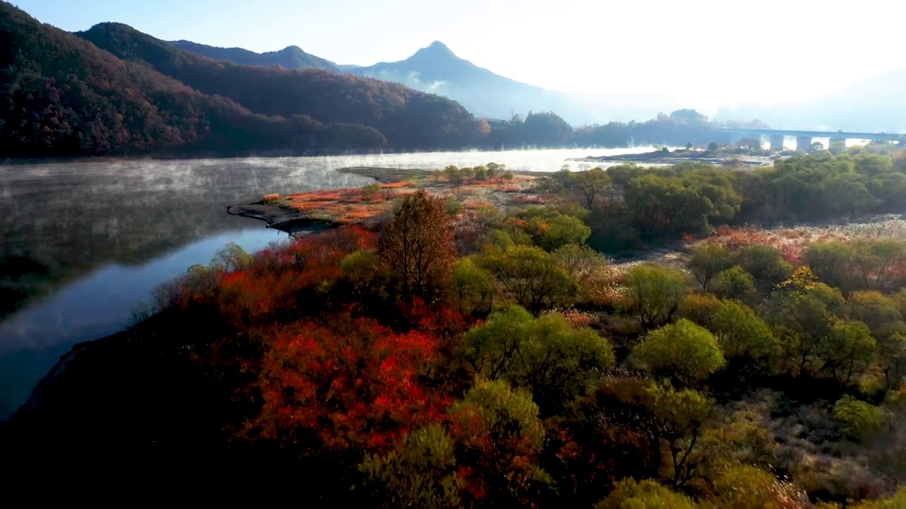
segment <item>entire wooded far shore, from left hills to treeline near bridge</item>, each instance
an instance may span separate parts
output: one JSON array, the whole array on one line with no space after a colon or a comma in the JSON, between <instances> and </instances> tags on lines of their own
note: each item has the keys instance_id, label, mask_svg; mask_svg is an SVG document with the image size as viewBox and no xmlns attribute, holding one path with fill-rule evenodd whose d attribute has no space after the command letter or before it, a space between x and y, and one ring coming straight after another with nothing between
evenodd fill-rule
<instances>
[{"instance_id":1,"label":"entire wooded far shore, from left hills to treeline near bridge","mask_svg":"<svg viewBox=\"0 0 906 509\"><path fill-rule=\"evenodd\" d=\"M737 125L694 110L578 129L554 112L475 119L399 83L211 60L125 24L70 34L2 1L0 105L0 158L705 146Z\"/></svg>"}]
</instances>

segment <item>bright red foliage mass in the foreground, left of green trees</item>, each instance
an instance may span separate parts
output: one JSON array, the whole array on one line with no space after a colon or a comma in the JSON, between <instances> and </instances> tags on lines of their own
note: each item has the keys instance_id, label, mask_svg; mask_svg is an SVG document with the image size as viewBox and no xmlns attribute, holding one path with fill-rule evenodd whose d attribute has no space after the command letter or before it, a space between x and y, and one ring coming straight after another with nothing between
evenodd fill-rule
<instances>
[{"instance_id":1,"label":"bright red foliage mass in the foreground, left of green trees","mask_svg":"<svg viewBox=\"0 0 906 509\"><path fill-rule=\"evenodd\" d=\"M348 314L289 326L265 353L264 404L247 432L319 449L389 447L444 417L449 400L423 383L437 347L429 334Z\"/></svg>"}]
</instances>

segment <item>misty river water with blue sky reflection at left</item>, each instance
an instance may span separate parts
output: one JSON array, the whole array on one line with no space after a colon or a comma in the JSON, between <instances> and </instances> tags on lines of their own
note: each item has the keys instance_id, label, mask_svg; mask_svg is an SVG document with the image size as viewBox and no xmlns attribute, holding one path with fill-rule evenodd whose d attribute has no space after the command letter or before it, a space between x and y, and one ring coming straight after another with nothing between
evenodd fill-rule
<instances>
[{"instance_id":1,"label":"misty river water with blue sky reflection at left","mask_svg":"<svg viewBox=\"0 0 906 509\"><path fill-rule=\"evenodd\" d=\"M229 242L255 251L286 241L260 221L228 216L226 206L267 193L371 182L338 168L440 169L493 161L555 171L568 158L650 149L0 166L0 422L73 344L128 326L158 284L191 264L207 264Z\"/></svg>"}]
</instances>

